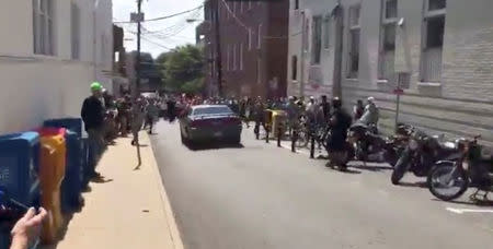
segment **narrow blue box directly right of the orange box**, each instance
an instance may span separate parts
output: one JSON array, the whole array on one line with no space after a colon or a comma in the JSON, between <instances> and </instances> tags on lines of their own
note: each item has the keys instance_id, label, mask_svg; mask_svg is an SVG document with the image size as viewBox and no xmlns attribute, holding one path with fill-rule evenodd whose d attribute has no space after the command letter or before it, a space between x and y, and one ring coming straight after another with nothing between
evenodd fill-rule
<instances>
[{"instance_id":1,"label":"narrow blue box directly right of the orange box","mask_svg":"<svg viewBox=\"0 0 493 249\"><path fill-rule=\"evenodd\" d=\"M61 183L61 210L71 212L82 204L82 143L79 134L71 130L66 133L67 167Z\"/></svg>"}]
</instances>

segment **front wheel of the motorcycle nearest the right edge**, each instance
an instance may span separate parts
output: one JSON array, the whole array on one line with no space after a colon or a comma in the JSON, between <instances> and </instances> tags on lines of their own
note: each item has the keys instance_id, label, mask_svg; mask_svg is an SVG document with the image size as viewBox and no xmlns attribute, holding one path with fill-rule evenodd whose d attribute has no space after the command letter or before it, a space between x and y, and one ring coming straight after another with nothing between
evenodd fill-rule
<instances>
[{"instance_id":1,"label":"front wheel of the motorcycle nearest the right edge","mask_svg":"<svg viewBox=\"0 0 493 249\"><path fill-rule=\"evenodd\" d=\"M433 195L443 201L450 201L461 197L468 190L467 173L455 169L454 165L437 165L429 171L426 181Z\"/></svg>"}]
</instances>

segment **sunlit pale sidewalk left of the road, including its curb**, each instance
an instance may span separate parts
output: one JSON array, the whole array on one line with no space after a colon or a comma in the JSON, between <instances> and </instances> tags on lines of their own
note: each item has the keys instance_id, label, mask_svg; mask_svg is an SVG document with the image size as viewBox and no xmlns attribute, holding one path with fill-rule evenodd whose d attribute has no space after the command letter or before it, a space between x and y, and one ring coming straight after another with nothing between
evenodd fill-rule
<instances>
[{"instance_id":1,"label":"sunlit pale sidewalk left of the road, including its curb","mask_svg":"<svg viewBox=\"0 0 493 249\"><path fill-rule=\"evenodd\" d=\"M149 137L140 133L142 165L130 139L116 140L98 167L105 182L91 183L85 205L68 224L57 249L183 249Z\"/></svg>"}]
</instances>

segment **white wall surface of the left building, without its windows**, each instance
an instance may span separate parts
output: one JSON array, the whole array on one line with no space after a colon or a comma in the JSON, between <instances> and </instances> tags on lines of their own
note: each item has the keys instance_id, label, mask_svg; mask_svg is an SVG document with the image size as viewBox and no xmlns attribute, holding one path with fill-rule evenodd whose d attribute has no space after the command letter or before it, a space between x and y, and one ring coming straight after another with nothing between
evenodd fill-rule
<instances>
[{"instance_id":1,"label":"white wall surface of the left building, without its windows","mask_svg":"<svg viewBox=\"0 0 493 249\"><path fill-rule=\"evenodd\" d=\"M112 34L111 0L100 0L99 32ZM69 0L54 0L55 56L34 55L32 0L11 0L0 9L0 134L30 130L43 120L79 117L80 107L94 81L92 22L94 2L77 0L81 9L81 60L71 60L71 9ZM106 40L112 67L112 35ZM96 70L98 72L98 70ZM110 86L110 79L102 78Z\"/></svg>"}]
</instances>

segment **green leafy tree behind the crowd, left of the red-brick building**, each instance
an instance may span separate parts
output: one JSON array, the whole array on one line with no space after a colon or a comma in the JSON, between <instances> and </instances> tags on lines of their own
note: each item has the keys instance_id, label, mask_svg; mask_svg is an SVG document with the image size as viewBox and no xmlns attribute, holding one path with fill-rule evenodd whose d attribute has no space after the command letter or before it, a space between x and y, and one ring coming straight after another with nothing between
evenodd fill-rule
<instances>
[{"instance_id":1,"label":"green leafy tree behind the crowd, left of the red-brick building","mask_svg":"<svg viewBox=\"0 0 493 249\"><path fill-rule=\"evenodd\" d=\"M164 87L183 93L198 93L204 84L204 55L199 47L176 47L158 57Z\"/></svg>"}]
</instances>

